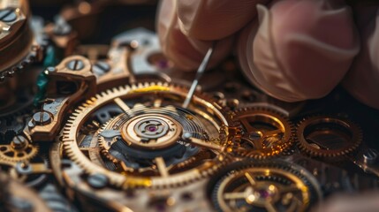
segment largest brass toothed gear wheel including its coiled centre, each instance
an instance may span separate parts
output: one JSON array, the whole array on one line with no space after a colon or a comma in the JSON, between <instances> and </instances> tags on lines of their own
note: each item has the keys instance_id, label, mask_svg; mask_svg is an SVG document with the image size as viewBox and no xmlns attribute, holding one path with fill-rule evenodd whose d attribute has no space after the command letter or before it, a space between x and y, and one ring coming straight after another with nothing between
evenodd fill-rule
<instances>
[{"instance_id":1,"label":"largest brass toothed gear wheel including its coiled centre","mask_svg":"<svg viewBox=\"0 0 379 212\"><path fill-rule=\"evenodd\" d=\"M88 174L122 188L178 186L208 176L227 161L229 119L202 94L182 108L187 92L144 83L96 95L64 126L64 152ZM115 105L118 113L96 113Z\"/></svg>"}]
</instances>

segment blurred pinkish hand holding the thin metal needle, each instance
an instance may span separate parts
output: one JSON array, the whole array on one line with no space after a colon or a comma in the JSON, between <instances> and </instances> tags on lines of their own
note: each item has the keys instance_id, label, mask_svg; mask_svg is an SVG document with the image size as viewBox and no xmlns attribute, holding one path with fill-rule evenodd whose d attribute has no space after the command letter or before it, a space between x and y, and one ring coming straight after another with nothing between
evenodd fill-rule
<instances>
[{"instance_id":1,"label":"blurred pinkish hand holding the thin metal needle","mask_svg":"<svg viewBox=\"0 0 379 212\"><path fill-rule=\"evenodd\" d=\"M156 26L163 53L180 69L195 70L218 41L210 66L235 51L246 78L268 95L321 98L342 82L379 109L378 8L352 10L343 0L162 0Z\"/></svg>"}]
</instances>

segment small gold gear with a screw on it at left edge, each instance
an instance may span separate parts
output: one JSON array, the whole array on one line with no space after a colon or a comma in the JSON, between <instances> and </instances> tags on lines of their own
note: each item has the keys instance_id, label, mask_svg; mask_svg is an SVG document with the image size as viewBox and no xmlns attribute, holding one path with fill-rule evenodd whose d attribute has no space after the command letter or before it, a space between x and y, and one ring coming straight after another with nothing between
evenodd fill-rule
<instances>
[{"instance_id":1,"label":"small gold gear with a screw on it at left edge","mask_svg":"<svg viewBox=\"0 0 379 212\"><path fill-rule=\"evenodd\" d=\"M11 144L0 145L0 160L10 163L24 162L38 153L38 146L30 144L22 135L15 136Z\"/></svg>"}]
</instances>

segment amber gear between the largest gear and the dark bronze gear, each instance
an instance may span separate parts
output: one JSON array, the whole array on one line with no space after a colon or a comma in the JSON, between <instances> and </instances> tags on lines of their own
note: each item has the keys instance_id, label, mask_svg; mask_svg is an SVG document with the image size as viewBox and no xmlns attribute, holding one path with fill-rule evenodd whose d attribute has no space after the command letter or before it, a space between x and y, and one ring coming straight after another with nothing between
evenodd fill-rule
<instances>
[{"instance_id":1,"label":"amber gear between the largest gear and the dark bronze gear","mask_svg":"<svg viewBox=\"0 0 379 212\"><path fill-rule=\"evenodd\" d=\"M292 122L277 110L249 107L237 110L233 117L242 129L240 142L233 144L239 156L264 159L281 154L293 144Z\"/></svg>"}]
</instances>

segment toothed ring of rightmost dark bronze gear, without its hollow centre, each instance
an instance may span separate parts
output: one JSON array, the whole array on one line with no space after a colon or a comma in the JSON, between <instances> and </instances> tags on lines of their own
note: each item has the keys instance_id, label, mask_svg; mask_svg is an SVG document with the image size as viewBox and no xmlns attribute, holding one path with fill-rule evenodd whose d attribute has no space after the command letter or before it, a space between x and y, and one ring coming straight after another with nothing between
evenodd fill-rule
<instances>
[{"instance_id":1,"label":"toothed ring of rightmost dark bronze gear, without its hollow centre","mask_svg":"<svg viewBox=\"0 0 379 212\"><path fill-rule=\"evenodd\" d=\"M352 134L352 144L347 147L337 148L337 149L319 149L312 147L305 138L304 132L307 127L313 124L320 123L332 123L335 125L343 126L349 133ZM333 160L345 160L345 155L352 154L360 147L360 143L362 141L362 131L359 125L356 125L351 120L346 117L337 117L330 115L316 115L311 117L305 117L301 121L299 121L297 130L297 146L299 150L306 155L319 157L319 158L329 158Z\"/></svg>"}]
</instances>

